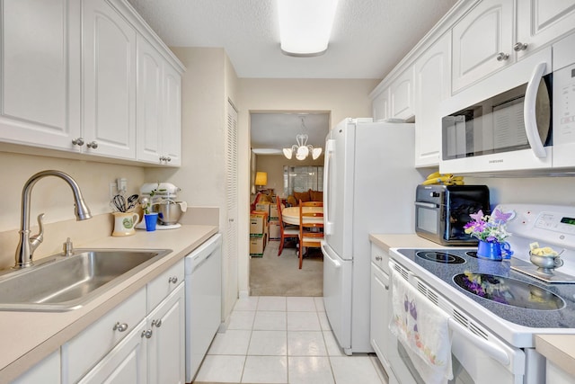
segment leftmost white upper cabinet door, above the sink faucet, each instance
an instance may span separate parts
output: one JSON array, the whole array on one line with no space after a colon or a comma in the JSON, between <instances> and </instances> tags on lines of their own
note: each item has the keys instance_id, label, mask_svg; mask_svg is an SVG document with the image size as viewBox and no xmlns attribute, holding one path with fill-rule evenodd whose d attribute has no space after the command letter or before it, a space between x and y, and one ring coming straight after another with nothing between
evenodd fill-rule
<instances>
[{"instance_id":1,"label":"leftmost white upper cabinet door, above the sink faucet","mask_svg":"<svg viewBox=\"0 0 575 384\"><path fill-rule=\"evenodd\" d=\"M80 129L80 4L0 6L0 139L70 149Z\"/></svg>"}]
</instances>

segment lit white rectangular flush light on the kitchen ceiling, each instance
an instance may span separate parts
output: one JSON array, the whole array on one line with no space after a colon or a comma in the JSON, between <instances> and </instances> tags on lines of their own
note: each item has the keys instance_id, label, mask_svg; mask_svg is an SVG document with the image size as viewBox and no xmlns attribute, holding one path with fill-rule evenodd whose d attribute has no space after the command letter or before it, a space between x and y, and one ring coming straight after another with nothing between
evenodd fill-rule
<instances>
[{"instance_id":1,"label":"lit white rectangular flush light on the kitchen ceiling","mask_svg":"<svg viewBox=\"0 0 575 384\"><path fill-rule=\"evenodd\" d=\"M289 56L318 56L327 50L338 0L278 0L279 40Z\"/></svg>"}]
</instances>

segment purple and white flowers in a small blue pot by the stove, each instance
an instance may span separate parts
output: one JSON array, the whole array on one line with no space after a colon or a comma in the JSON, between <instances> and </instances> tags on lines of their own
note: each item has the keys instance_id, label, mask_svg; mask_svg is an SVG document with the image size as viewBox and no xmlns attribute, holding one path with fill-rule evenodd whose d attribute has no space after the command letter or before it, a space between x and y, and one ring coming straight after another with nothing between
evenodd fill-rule
<instances>
[{"instance_id":1,"label":"purple and white flowers in a small blue pot by the stove","mask_svg":"<svg viewBox=\"0 0 575 384\"><path fill-rule=\"evenodd\" d=\"M513 251L509 243L504 241L511 234L506 223L513 218L513 212L494 210L491 215L483 215L483 211L469 215L473 220L464 226L464 231L479 240L477 256L491 260L509 259Z\"/></svg>"}]
</instances>

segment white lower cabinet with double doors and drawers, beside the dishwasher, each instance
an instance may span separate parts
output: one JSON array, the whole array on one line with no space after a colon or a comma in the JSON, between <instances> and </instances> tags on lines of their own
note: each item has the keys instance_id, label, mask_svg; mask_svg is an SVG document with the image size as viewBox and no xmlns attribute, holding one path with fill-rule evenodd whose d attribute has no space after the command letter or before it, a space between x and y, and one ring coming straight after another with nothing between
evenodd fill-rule
<instances>
[{"instance_id":1,"label":"white lower cabinet with double doors and drawers, beside the dishwasher","mask_svg":"<svg viewBox=\"0 0 575 384\"><path fill-rule=\"evenodd\" d=\"M62 383L183 383L183 263L62 345Z\"/></svg>"}]
</instances>

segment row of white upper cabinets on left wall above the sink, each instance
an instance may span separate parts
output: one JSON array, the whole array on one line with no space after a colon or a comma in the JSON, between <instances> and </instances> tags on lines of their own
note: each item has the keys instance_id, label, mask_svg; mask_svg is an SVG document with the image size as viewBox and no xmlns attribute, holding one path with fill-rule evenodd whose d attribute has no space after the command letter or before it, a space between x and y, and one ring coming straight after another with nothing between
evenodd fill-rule
<instances>
[{"instance_id":1,"label":"row of white upper cabinets on left wall above the sink","mask_svg":"<svg viewBox=\"0 0 575 384\"><path fill-rule=\"evenodd\" d=\"M0 141L181 165L185 68L127 0L0 0L0 11Z\"/></svg>"}]
</instances>

